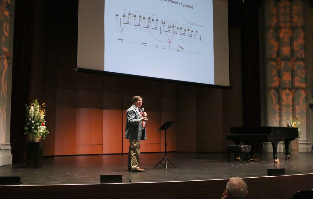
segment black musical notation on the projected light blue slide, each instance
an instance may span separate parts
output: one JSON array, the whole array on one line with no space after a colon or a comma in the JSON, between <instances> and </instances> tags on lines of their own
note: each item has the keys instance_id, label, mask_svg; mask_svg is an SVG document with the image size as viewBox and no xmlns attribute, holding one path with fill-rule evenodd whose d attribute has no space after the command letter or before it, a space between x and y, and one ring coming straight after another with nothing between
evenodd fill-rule
<instances>
[{"instance_id":1,"label":"black musical notation on the projected light blue slide","mask_svg":"<svg viewBox=\"0 0 313 199\"><path fill-rule=\"evenodd\" d=\"M149 42L151 45L147 45L148 42L136 42L136 44L143 44L144 46L150 46L155 48L164 48L168 50L177 50L178 52L186 52L193 54L203 54L197 52L197 45L203 45L205 38L201 34L203 25L182 21L182 23L173 22L170 18L159 19L156 14L149 15L148 13L141 14L140 12L129 12L124 10L122 14L115 15L116 31L121 34L119 39L123 42L123 35L127 35L126 38L134 36L134 40L138 40L138 35L149 35L155 42ZM178 25L179 24L179 25ZM134 31L137 31L134 34ZM131 32L131 33L130 33ZM163 43L162 45L156 45L152 43ZM175 42L175 44L173 44ZM134 44L134 41L130 41ZM184 48L183 46L188 46ZM188 44L188 45L186 45ZM177 46L174 48L172 46ZM162 47L160 47L162 46ZM191 47L192 46L192 47Z\"/></svg>"}]
</instances>

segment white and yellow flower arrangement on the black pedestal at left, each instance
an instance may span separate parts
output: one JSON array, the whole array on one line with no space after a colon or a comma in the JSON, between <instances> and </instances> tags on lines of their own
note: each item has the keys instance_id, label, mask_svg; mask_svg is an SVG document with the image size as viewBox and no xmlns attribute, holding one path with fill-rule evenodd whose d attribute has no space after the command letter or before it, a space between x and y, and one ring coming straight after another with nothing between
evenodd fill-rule
<instances>
[{"instance_id":1,"label":"white and yellow flower arrangement on the black pedestal at left","mask_svg":"<svg viewBox=\"0 0 313 199\"><path fill-rule=\"evenodd\" d=\"M45 103L40 106L37 99L28 107L26 106L26 125L24 134L33 134L35 138L45 139L46 135L49 134L49 130L46 127L46 116Z\"/></svg>"}]
</instances>

